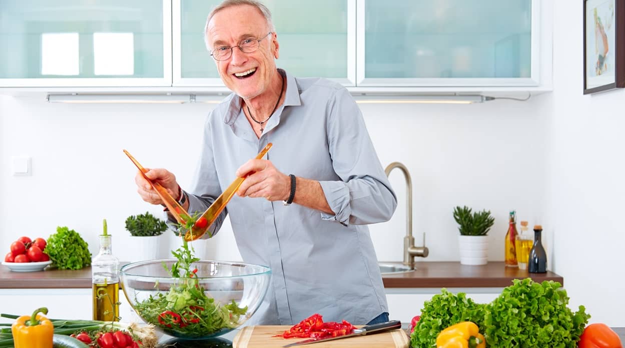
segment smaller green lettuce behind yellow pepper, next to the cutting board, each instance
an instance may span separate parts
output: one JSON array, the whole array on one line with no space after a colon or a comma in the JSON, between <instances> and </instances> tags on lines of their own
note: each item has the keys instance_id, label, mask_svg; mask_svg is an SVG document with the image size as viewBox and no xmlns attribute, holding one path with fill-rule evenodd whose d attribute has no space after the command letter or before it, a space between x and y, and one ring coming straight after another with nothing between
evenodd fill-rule
<instances>
[{"instance_id":1,"label":"smaller green lettuce behind yellow pepper, next to the cutting board","mask_svg":"<svg viewBox=\"0 0 625 348\"><path fill-rule=\"evenodd\" d=\"M464 292L452 294L441 289L441 294L426 301L421 310L421 320L417 322L410 336L413 348L436 347L436 337L447 327L463 321L472 321L482 332L486 305L477 304L466 297Z\"/></svg>"}]
</instances>

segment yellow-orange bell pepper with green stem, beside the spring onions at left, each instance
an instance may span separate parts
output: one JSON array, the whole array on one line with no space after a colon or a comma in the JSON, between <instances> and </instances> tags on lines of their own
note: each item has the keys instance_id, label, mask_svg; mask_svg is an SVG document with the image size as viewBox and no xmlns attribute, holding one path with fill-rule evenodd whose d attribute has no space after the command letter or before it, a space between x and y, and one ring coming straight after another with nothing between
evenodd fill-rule
<instances>
[{"instance_id":1,"label":"yellow-orange bell pepper with green stem, beside the spring onions at left","mask_svg":"<svg viewBox=\"0 0 625 348\"><path fill-rule=\"evenodd\" d=\"M47 314L47 308L37 308L32 316L21 316L11 325L15 348L52 348L54 325L38 314Z\"/></svg>"}]
</instances>

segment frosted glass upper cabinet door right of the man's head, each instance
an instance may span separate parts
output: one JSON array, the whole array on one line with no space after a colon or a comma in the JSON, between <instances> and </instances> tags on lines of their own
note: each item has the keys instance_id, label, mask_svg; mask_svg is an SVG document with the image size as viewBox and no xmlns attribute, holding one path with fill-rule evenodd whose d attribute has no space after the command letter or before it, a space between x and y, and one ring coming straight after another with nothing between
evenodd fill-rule
<instances>
[{"instance_id":1,"label":"frosted glass upper cabinet door right of the man's head","mask_svg":"<svg viewBox=\"0 0 625 348\"><path fill-rule=\"evenodd\" d=\"M357 6L358 86L539 84L536 0L360 0Z\"/></svg>"}]
</instances>

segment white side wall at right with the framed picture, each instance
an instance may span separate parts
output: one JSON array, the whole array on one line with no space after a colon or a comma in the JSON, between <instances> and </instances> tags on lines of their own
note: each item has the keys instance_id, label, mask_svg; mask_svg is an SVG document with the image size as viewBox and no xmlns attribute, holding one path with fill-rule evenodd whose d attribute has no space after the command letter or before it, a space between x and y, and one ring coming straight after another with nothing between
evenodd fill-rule
<instances>
[{"instance_id":1,"label":"white side wall at right with the framed picture","mask_svg":"<svg viewBox=\"0 0 625 348\"><path fill-rule=\"evenodd\" d=\"M592 322L625 326L625 91L582 95L582 6L557 0L556 9L548 163L552 266L564 277L571 307L586 306Z\"/></svg>"}]
</instances>

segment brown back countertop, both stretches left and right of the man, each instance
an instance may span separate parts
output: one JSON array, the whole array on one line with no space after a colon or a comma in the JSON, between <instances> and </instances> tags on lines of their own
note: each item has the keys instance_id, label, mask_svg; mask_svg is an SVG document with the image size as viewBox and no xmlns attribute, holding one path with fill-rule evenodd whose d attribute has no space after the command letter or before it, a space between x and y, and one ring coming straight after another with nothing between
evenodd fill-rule
<instances>
[{"instance_id":1,"label":"brown back countertop, both stretches left and right of the man","mask_svg":"<svg viewBox=\"0 0 625 348\"><path fill-rule=\"evenodd\" d=\"M385 262L386 263L386 262ZM384 287L506 287L512 279L531 277L534 281L557 281L553 272L528 273L505 267L504 262L488 262L484 266L462 266L460 262L417 262L416 271L384 274ZM0 266L0 289L81 289L91 288L91 267L78 271L49 269L40 272L12 272Z\"/></svg>"}]
</instances>

